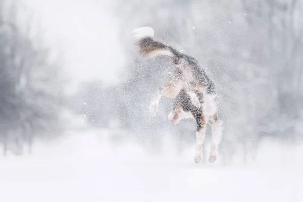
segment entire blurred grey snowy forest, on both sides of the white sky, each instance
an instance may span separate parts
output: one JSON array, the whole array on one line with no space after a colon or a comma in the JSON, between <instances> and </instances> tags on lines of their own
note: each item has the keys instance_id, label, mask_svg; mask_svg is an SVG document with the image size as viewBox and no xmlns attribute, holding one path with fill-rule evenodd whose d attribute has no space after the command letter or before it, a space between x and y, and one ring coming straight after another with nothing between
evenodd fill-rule
<instances>
[{"instance_id":1,"label":"entire blurred grey snowy forest, on both sides of the white sky","mask_svg":"<svg viewBox=\"0 0 303 202\"><path fill-rule=\"evenodd\" d=\"M120 83L85 82L70 97L63 90L61 57L45 45L42 32L33 31L30 15L22 21L17 17L19 1L0 4L4 154L21 155L24 145L31 151L34 138L62 134L66 107L84 115L88 127L115 131L115 141L131 139L157 152L167 134L180 152L193 144L193 121L172 125L167 120L172 99L161 99L156 117L148 114L150 94L166 78L171 61L136 54L131 31L141 26L153 27L156 40L196 58L215 81L225 162L239 149L244 162L247 154L254 159L264 138L285 145L302 140L302 0L114 0L111 9L128 59L118 75Z\"/></svg>"}]
</instances>

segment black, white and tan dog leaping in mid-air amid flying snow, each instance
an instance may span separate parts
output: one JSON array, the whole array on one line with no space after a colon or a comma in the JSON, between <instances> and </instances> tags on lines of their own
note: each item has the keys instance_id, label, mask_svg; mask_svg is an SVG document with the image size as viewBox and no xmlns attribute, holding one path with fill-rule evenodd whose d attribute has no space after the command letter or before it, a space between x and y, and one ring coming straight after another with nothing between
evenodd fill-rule
<instances>
[{"instance_id":1,"label":"black, white and tan dog leaping in mid-air amid flying snow","mask_svg":"<svg viewBox=\"0 0 303 202\"><path fill-rule=\"evenodd\" d=\"M206 124L211 123L212 143L209 162L215 162L222 137L222 120L219 119L218 96L214 82L193 57L181 54L173 47L154 40L153 28L140 27L134 29L133 33L133 43L141 56L149 58L167 56L173 61L165 85L151 97L149 107L151 115L156 115L161 97L166 96L174 98L173 110L168 115L171 122L178 123L184 118L195 120L197 126L195 163L201 161Z\"/></svg>"}]
</instances>

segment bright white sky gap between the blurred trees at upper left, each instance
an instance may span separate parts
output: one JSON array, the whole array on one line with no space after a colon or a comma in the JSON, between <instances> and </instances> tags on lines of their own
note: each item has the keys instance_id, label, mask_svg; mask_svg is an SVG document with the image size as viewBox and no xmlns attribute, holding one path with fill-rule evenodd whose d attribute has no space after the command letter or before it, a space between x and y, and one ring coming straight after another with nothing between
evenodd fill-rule
<instances>
[{"instance_id":1,"label":"bright white sky gap between the blurred trees at upper left","mask_svg":"<svg viewBox=\"0 0 303 202\"><path fill-rule=\"evenodd\" d=\"M65 69L77 89L79 81L100 78L117 82L123 55L118 41L118 22L110 13L109 1L27 0L40 19L44 34L54 46L62 46Z\"/></svg>"}]
</instances>

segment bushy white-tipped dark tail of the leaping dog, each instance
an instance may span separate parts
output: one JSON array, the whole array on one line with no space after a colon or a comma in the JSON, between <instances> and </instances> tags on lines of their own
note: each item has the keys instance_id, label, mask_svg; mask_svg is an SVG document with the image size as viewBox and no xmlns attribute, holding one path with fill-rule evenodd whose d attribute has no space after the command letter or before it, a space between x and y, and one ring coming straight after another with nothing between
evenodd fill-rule
<instances>
[{"instance_id":1,"label":"bushy white-tipped dark tail of the leaping dog","mask_svg":"<svg viewBox=\"0 0 303 202\"><path fill-rule=\"evenodd\" d=\"M138 47L138 51L142 56L153 58L164 55L174 59L175 62L179 61L181 55L179 52L174 48L153 39L155 34L153 28L140 27L134 29L133 33L133 43Z\"/></svg>"}]
</instances>

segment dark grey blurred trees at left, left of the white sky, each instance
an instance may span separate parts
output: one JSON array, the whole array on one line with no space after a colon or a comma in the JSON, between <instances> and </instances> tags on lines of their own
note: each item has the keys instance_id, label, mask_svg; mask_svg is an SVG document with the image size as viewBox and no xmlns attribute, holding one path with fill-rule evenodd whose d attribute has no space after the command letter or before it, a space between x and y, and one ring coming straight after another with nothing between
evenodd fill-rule
<instances>
[{"instance_id":1,"label":"dark grey blurred trees at left, left of the white sky","mask_svg":"<svg viewBox=\"0 0 303 202\"><path fill-rule=\"evenodd\" d=\"M0 0L0 142L3 154L31 153L35 139L52 139L63 127L60 57L33 30L31 15L20 19L20 1ZM1 148L0 147L0 148Z\"/></svg>"}]
</instances>

